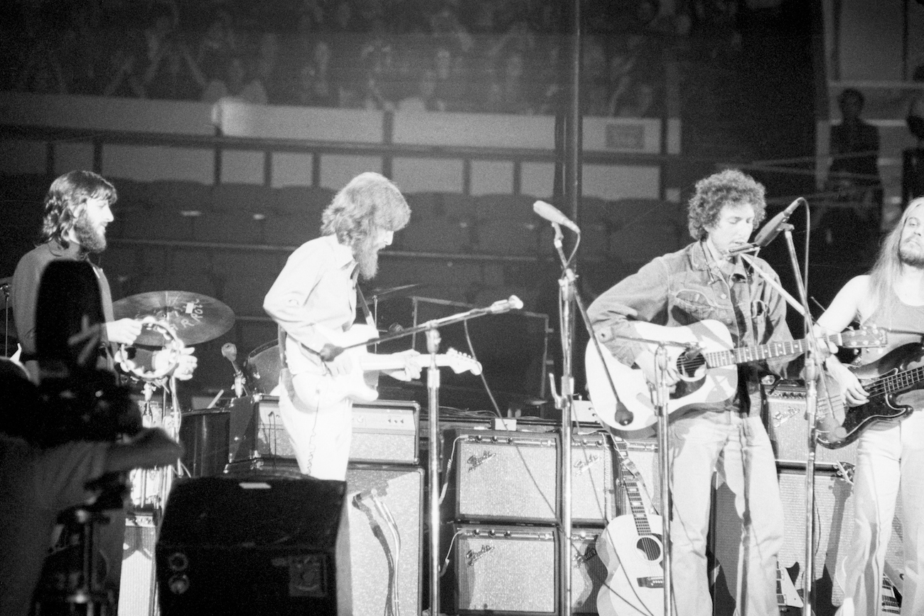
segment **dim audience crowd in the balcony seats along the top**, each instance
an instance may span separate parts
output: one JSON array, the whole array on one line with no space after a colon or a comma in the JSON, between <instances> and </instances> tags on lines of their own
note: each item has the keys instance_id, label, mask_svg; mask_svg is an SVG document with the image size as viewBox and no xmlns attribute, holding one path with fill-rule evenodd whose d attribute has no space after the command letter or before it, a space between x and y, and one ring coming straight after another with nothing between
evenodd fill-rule
<instances>
[{"instance_id":1,"label":"dim audience crowd in the balcony seats along the top","mask_svg":"<svg viewBox=\"0 0 924 616\"><path fill-rule=\"evenodd\" d=\"M734 0L674 4L585 0L585 115L660 117L666 50L734 49ZM4 90L507 114L553 114L564 92L559 0L14 0L8 10Z\"/></svg>"}]
</instances>

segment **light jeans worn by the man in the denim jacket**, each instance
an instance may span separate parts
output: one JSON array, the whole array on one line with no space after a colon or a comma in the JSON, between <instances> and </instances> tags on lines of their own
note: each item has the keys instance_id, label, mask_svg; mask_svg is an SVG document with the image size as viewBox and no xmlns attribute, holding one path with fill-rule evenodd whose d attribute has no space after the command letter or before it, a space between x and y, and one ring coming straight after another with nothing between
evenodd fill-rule
<instances>
[{"instance_id":1,"label":"light jeans worn by the man in the denim jacket","mask_svg":"<svg viewBox=\"0 0 924 616\"><path fill-rule=\"evenodd\" d=\"M742 522L736 605L740 616L778 616L776 561L784 513L770 437L759 416L690 412L670 424L671 542L675 614L711 616L706 547L712 474L723 474ZM717 529L722 532L723 529Z\"/></svg>"}]
</instances>

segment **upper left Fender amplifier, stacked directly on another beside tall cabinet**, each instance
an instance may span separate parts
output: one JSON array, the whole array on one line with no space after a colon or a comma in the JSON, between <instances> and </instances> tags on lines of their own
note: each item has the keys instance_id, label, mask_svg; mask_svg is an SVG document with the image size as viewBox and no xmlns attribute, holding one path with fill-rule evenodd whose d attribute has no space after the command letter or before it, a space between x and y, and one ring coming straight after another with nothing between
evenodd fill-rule
<instances>
[{"instance_id":1,"label":"upper left Fender amplifier, stacked directly on another beside tall cabinet","mask_svg":"<svg viewBox=\"0 0 924 616\"><path fill-rule=\"evenodd\" d=\"M503 430L444 432L452 518L553 523L558 437Z\"/></svg>"}]
</instances>

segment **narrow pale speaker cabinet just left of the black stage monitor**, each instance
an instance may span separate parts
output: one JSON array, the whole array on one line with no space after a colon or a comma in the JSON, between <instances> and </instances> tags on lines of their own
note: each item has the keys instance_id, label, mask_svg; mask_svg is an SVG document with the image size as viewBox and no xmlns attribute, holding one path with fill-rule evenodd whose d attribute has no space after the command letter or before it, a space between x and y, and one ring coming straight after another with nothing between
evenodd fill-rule
<instances>
[{"instance_id":1,"label":"narrow pale speaker cabinet just left of the black stage monitor","mask_svg":"<svg viewBox=\"0 0 924 616\"><path fill-rule=\"evenodd\" d=\"M154 541L156 527L152 515L129 514L125 523L122 574L118 611L131 616L156 616L154 594Z\"/></svg>"}]
</instances>

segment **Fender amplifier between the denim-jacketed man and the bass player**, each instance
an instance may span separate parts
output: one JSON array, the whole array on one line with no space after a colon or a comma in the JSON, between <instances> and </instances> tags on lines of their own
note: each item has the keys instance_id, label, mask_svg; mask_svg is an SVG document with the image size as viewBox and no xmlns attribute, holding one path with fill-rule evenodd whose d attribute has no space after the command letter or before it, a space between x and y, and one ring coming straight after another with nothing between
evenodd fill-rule
<instances>
[{"instance_id":1,"label":"Fender amplifier between the denim-jacketed man and the bass player","mask_svg":"<svg viewBox=\"0 0 924 616\"><path fill-rule=\"evenodd\" d=\"M777 381L763 386L767 433L778 462L805 463L808 460L806 388L797 381ZM821 395L821 391L819 392ZM830 450L815 447L815 462L832 466L836 462L857 463L857 442Z\"/></svg>"}]
</instances>

